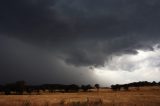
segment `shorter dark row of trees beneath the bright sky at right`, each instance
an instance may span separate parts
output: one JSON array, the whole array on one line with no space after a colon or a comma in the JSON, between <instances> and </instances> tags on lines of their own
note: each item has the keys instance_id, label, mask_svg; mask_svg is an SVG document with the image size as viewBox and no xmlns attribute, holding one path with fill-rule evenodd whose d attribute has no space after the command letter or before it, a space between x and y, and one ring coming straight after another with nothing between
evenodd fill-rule
<instances>
[{"instance_id":1,"label":"shorter dark row of trees beneath the bright sky at right","mask_svg":"<svg viewBox=\"0 0 160 106\"><path fill-rule=\"evenodd\" d=\"M111 89L113 91L120 91L120 90L128 91L129 87L136 87L137 90L139 90L139 87L143 87L143 86L160 86L160 82L139 81L139 82L133 82L128 84L116 84L116 85L111 85Z\"/></svg>"}]
</instances>

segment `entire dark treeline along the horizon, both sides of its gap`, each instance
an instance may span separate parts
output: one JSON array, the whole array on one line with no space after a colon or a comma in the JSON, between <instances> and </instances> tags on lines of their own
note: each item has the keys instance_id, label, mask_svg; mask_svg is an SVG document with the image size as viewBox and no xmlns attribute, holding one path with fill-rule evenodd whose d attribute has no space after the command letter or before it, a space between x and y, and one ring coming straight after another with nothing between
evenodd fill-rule
<instances>
[{"instance_id":1,"label":"entire dark treeline along the horizon, both sides of its gap","mask_svg":"<svg viewBox=\"0 0 160 106\"><path fill-rule=\"evenodd\" d=\"M136 87L137 90L139 87L142 86L160 86L160 82L147 82L147 81L140 81L140 82L133 82L129 84L116 84L111 85L111 89L113 91L120 91L125 90L128 91L130 87ZM25 81L17 81L15 83L9 83L5 85L0 85L0 92L2 94L10 95L10 94L32 94L40 92L78 92L78 91L89 91L90 89L96 88L97 91L100 88L99 84L95 84L94 87L91 85L81 85L78 86L76 84L71 85L63 85L63 84L43 84L43 85L28 85Z\"/></svg>"}]
</instances>

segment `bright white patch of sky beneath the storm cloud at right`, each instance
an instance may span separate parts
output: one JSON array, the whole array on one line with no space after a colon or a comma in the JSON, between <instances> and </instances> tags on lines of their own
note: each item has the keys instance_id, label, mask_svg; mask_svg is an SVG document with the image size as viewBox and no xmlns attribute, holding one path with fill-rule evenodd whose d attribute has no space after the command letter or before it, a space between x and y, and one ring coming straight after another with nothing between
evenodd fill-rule
<instances>
[{"instance_id":1,"label":"bright white patch of sky beneath the storm cloud at right","mask_svg":"<svg viewBox=\"0 0 160 106\"><path fill-rule=\"evenodd\" d=\"M104 67L95 68L102 85L123 84L137 81L160 81L160 48L152 51L137 50L137 54L113 56Z\"/></svg>"}]
</instances>

